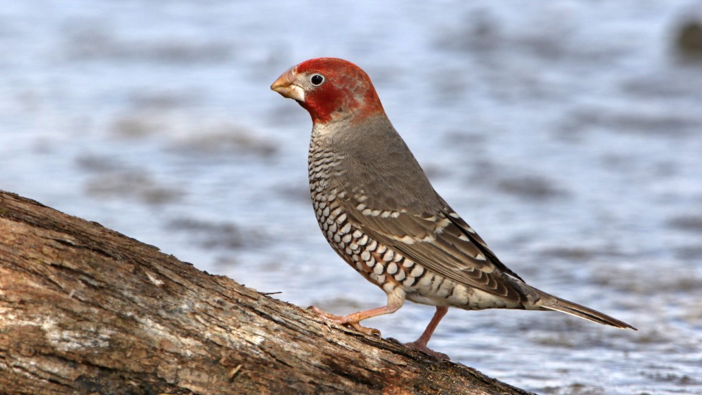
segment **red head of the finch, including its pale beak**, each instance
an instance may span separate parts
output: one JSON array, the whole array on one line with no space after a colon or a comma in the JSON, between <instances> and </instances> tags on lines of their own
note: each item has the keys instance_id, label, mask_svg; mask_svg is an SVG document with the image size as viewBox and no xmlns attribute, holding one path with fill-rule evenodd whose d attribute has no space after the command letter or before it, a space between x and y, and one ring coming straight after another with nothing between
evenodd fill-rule
<instances>
[{"instance_id":1,"label":"red head of the finch, including its pale beak","mask_svg":"<svg viewBox=\"0 0 702 395\"><path fill-rule=\"evenodd\" d=\"M366 72L343 59L305 60L284 72L270 89L298 101L310 112L314 123L352 121L383 112Z\"/></svg>"}]
</instances>

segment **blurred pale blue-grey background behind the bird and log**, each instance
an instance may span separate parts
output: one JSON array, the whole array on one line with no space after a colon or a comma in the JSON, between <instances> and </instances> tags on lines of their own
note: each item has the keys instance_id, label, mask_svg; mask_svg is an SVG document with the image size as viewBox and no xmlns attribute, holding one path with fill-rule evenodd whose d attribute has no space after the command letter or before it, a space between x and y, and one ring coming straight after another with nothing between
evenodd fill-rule
<instances>
[{"instance_id":1,"label":"blurred pale blue-grey background behind the bird and log","mask_svg":"<svg viewBox=\"0 0 702 395\"><path fill-rule=\"evenodd\" d=\"M0 1L0 189L334 313L311 122L269 90L369 73L435 188L564 314L451 310L430 346L541 394L702 394L702 4ZM409 342L433 308L366 324Z\"/></svg>"}]
</instances>

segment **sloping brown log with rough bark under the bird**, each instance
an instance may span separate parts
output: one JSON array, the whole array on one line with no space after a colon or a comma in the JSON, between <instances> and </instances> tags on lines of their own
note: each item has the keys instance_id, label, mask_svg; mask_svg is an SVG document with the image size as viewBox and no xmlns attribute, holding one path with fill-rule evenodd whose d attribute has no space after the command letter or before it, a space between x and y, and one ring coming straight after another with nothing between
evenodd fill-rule
<instances>
[{"instance_id":1,"label":"sloping brown log with rough bark under the bird","mask_svg":"<svg viewBox=\"0 0 702 395\"><path fill-rule=\"evenodd\" d=\"M2 394L528 394L0 191Z\"/></svg>"}]
</instances>

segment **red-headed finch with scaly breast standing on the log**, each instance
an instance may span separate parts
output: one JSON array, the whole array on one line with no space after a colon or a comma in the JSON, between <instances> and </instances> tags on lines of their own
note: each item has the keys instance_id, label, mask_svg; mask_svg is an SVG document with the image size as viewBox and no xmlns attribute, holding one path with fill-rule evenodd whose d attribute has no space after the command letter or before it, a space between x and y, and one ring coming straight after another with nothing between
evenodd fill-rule
<instances>
[{"instance_id":1,"label":"red-headed finch with scaly breast standing on the log","mask_svg":"<svg viewBox=\"0 0 702 395\"><path fill-rule=\"evenodd\" d=\"M369 75L338 58L305 60L270 89L312 117L308 154L314 214L329 245L388 296L385 306L337 316L310 306L327 322L380 335L362 320L394 313L406 300L435 306L420 337L428 347L449 307L465 310L561 311L595 323L628 323L527 285L432 187L390 123Z\"/></svg>"}]
</instances>

